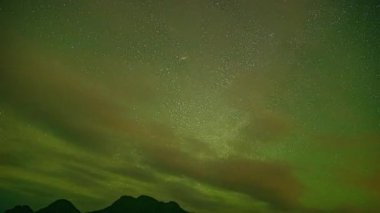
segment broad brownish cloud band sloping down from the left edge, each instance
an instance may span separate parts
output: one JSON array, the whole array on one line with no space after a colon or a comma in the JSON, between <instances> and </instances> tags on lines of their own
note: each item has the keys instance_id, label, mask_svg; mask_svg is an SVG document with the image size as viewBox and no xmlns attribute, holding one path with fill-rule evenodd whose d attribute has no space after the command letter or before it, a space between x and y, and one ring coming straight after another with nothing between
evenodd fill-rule
<instances>
[{"instance_id":1,"label":"broad brownish cloud band sloping down from the left edge","mask_svg":"<svg viewBox=\"0 0 380 213\"><path fill-rule=\"evenodd\" d=\"M129 82L128 88L114 86L110 92L107 84L65 64L63 57L18 41L21 44L14 44L14 49L2 51L0 94L19 115L67 142L98 153L113 150L110 141L126 141L126 135L140 133L136 121L128 117L132 107L118 100L131 106L150 99L147 94L152 85L144 84L141 76L128 78L140 84Z\"/></svg>"}]
</instances>

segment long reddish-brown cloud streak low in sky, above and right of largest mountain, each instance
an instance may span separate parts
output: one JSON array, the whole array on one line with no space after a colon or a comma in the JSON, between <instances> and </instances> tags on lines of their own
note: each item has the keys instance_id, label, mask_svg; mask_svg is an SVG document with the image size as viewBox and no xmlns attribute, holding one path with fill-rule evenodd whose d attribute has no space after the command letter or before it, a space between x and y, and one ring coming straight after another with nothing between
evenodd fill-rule
<instances>
[{"instance_id":1,"label":"long reddish-brown cloud streak low in sky, above and right of largest mountain","mask_svg":"<svg viewBox=\"0 0 380 213\"><path fill-rule=\"evenodd\" d=\"M200 159L182 151L178 144L159 141L139 147L145 163L153 169L245 193L276 209L298 208L303 188L286 164L236 158Z\"/></svg>"}]
</instances>

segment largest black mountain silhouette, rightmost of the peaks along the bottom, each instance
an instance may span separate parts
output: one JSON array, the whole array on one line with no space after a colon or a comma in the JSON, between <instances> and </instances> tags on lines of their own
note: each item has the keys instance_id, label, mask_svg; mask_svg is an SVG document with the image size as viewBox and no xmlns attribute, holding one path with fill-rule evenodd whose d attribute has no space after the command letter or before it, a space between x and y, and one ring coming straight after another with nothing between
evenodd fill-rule
<instances>
[{"instance_id":1,"label":"largest black mountain silhouette, rightmost of the peaks along the bottom","mask_svg":"<svg viewBox=\"0 0 380 213\"><path fill-rule=\"evenodd\" d=\"M176 202L170 201L167 203L158 201L152 197L141 195L138 198L131 196L122 196L115 201L111 206L89 213L185 213Z\"/></svg>"}]
</instances>

